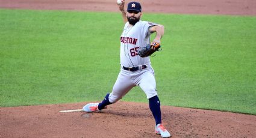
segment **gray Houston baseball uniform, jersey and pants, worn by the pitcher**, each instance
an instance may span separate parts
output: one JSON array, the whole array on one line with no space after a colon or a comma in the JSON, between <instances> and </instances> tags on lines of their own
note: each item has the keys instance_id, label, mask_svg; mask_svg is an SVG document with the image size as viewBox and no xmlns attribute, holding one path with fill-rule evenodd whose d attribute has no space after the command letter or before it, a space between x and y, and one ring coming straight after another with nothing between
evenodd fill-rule
<instances>
[{"instance_id":1,"label":"gray Houston baseball uniform, jersey and pants, worn by the pitcher","mask_svg":"<svg viewBox=\"0 0 256 138\"><path fill-rule=\"evenodd\" d=\"M158 24L139 21L134 26L126 22L120 37L120 73L110 94L109 101L115 103L120 100L131 88L139 85L147 98L157 95L155 89L154 70L149 57L138 55L140 46L150 43L151 32L149 28ZM137 68L133 71L133 68ZM131 70L130 70L131 69Z\"/></svg>"}]
</instances>

